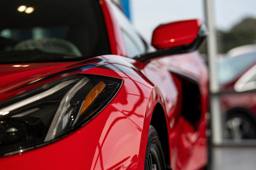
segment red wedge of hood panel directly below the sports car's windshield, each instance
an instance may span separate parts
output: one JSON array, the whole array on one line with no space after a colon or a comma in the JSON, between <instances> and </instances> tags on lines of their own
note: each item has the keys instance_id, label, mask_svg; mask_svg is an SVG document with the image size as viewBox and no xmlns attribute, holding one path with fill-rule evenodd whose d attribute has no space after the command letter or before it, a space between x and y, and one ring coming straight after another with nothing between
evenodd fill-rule
<instances>
[{"instance_id":1,"label":"red wedge of hood panel directly below the sports car's windshield","mask_svg":"<svg viewBox=\"0 0 256 170\"><path fill-rule=\"evenodd\" d=\"M72 63L0 64L0 93Z\"/></svg>"}]
</instances>

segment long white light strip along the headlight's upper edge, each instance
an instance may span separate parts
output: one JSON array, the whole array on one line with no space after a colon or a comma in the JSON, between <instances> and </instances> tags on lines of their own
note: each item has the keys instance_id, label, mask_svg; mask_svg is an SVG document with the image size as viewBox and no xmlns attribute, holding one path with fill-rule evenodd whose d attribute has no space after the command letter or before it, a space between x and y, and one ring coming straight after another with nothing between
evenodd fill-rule
<instances>
[{"instance_id":1,"label":"long white light strip along the headlight's upper edge","mask_svg":"<svg viewBox=\"0 0 256 170\"><path fill-rule=\"evenodd\" d=\"M75 81L75 79L62 82L62 83L56 85L55 87L53 87L53 88L51 88L51 89L49 89L49 90L47 90L45 92L39 93L39 94L37 94L35 96L29 97L29 98L27 98L25 100L22 100L20 102L11 104L10 106L4 107L4 108L0 109L0 116L1 115L6 115L10 111L18 109L18 108L20 108L22 106L25 106L27 104L30 104L32 102L35 102L35 101L40 100L42 98L45 98L47 96L50 96L51 94L55 93L56 91L59 91L60 89L66 87L67 85L69 85L70 83L72 83L74 81ZM8 112L8 113L6 113L6 112Z\"/></svg>"}]
</instances>

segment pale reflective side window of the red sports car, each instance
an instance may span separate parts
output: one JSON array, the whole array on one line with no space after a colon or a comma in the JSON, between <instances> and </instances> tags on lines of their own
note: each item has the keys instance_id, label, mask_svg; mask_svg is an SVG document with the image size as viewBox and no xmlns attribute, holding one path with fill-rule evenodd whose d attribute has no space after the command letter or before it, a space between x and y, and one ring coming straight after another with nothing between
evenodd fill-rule
<instances>
[{"instance_id":1,"label":"pale reflective side window of the red sports car","mask_svg":"<svg viewBox=\"0 0 256 170\"><path fill-rule=\"evenodd\" d=\"M136 33L128 18L117 7L116 4L112 4L112 9L115 17L118 21L119 27L122 30L123 41L126 48L127 57L134 57L138 54L146 52L146 44Z\"/></svg>"}]
</instances>

